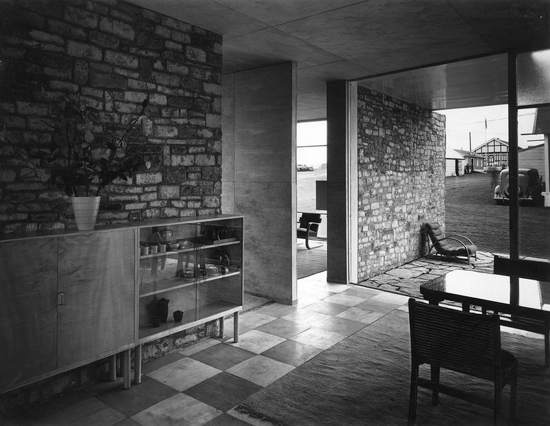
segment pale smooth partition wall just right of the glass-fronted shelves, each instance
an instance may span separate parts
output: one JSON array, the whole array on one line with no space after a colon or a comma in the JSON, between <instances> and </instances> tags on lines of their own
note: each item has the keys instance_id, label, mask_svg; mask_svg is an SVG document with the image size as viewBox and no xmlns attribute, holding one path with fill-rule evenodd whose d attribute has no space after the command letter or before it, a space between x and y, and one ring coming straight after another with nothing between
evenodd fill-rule
<instances>
[{"instance_id":1,"label":"pale smooth partition wall just right of the glass-fronted shelves","mask_svg":"<svg viewBox=\"0 0 550 426\"><path fill-rule=\"evenodd\" d=\"M245 292L295 304L296 64L223 78L222 211L245 216Z\"/></svg>"}]
</instances>

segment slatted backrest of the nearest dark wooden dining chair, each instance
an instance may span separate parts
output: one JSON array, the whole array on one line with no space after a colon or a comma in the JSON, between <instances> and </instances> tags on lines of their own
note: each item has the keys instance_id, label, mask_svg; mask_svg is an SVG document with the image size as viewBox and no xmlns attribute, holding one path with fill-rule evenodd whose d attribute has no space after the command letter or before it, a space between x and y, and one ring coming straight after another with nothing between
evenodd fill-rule
<instances>
[{"instance_id":1,"label":"slatted backrest of the nearest dark wooden dining chair","mask_svg":"<svg viewBox=\"0 0 550 426\"><path fill-rule=\"evenodd\" d=\"M463 313L409 302L412 359L483 379L494 379L500 365L496 315Z\"/></svg>"}]
</instances>

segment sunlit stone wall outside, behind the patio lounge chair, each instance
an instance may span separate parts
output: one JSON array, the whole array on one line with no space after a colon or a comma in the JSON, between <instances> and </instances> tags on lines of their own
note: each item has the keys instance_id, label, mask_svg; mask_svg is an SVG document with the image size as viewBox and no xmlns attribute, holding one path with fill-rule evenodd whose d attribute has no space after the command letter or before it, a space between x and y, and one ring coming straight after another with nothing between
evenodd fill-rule
<instances>
[{"instance_id":1,"label":"sunlit stone wall outside, behind the patio lounge chair","mask_svg":"<svg viewBox=\"0 0 550 426\"><path fill-rule=\"evenodd\" d=\"M445 117L358 87L359 281L423 255L445 223Z\"/></svg>"}]
</instances>

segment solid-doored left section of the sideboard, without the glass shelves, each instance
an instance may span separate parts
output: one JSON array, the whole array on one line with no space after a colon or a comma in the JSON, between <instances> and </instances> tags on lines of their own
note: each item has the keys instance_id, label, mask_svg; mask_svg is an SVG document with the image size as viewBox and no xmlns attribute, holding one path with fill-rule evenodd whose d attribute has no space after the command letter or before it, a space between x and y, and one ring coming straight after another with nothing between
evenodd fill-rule
<instances>
[{"instance_id":1,"label":"solid-doored left section of the sideboard, without the glass shelves","mask_svg":"<svg viewBox=\"0 0 550 426\"><path fill-rule=\"evenodd\" d=\"M0 392L131 348L135 231L0 241Z\"/></svg>"}]
</instances>

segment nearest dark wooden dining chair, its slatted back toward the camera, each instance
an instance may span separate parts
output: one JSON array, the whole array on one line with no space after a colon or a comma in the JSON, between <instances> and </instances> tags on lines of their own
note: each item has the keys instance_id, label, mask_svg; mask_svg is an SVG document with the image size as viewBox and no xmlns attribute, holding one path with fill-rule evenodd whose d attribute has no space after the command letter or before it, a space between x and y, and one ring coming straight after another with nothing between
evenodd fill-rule
<instances>
[{"instance_id":1,"label":"nearest dark wooden dining chair, its slatted back toward the camera","mask_svg":"<svg viewBox=\"0 0 550 426\"><path fill-rule=\"evenodd\" d=\"M410 400L409 424L417 415L418 387L432 390L432 404L439 393L494 410L494 424L500 423L502 390L510 385L510 417L516 414L518 362L500 348L497 315L465 313L409 299L410 321ZM419 366L428 364L430 379L419 377ZM441 368L494 383L494 399L468 394L465 390L439 382Z\"/></svg>"}]
</instances>

